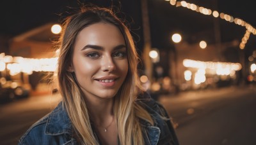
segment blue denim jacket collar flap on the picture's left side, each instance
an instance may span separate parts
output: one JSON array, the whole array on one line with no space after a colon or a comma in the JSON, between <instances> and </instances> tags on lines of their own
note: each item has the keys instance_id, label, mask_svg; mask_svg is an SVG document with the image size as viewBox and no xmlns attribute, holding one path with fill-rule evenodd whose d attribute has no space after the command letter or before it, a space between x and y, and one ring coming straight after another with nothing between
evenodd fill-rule
<instances>
[{"instance_id":1,"label":"blue denim jacket collar flap on the picture's left side","mask_svg":"<svg viewBox=\"0 0 256 145\"><path fill-rule=\"evenodd\" d=\"M62 102L60 102L52 113L49 114L45 127L45 134L72 134L72 123Z\"/></svg>"}]
</instances>

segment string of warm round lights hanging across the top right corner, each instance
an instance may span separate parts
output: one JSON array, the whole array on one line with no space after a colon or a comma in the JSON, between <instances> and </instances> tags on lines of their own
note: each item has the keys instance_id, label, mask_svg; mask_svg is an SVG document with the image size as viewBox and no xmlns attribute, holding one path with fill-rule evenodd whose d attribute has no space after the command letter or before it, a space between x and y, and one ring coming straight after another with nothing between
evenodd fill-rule
<instances>
[{"instance_id":1,"label":"string of warm round lights hanging across the top right corner","mask_svg":"<svg viewBox=\"0 0 256 145\"><path fill-rule=\"evenodd\" d=\"M244 46L246 45L250 34L252 33L253 35L256 35L256 29L253 27L251 24L248 22L245 22L241 18L234 18L228 14L225 13L220 13L216 10L212 12L212 10L208 8L204 8L202 6L198 6L193 3L188 3L186 1L176 1L176 0L170 0L170 4L176 7L182 6L184 8L188 8L189 10L197 11L199 13L202 13L204 15L212 15L212 17L218 18L220 17L223 20L226 20L227 22L234 23L237 25L241 25L242 27L246 28L246 36L244 35L244 38L242 38L242 41L239 45L239 47L243 50ZM244 41L246 39L246 41Z\"/></svg>"}]
</instances>

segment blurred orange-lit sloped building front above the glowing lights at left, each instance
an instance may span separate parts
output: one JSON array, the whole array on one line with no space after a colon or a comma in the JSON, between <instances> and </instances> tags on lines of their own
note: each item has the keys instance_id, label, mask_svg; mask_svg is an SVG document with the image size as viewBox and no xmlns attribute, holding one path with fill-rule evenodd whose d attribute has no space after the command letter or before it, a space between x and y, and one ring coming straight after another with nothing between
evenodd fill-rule
<instances>
[{"instance_id":1,"label":"blurred orange-lit sloped building front above the glowing lights at left","mask_svg":"<svg viewBox=\"0 0 256 145\"><path fill-rule=\"evenodd\" d=\"M10 54L36 59L54 57L52 41L56 41L58 36L51 32L52 25L45 24L15 36L10 41Z\"/></svg>"}]
</instances>

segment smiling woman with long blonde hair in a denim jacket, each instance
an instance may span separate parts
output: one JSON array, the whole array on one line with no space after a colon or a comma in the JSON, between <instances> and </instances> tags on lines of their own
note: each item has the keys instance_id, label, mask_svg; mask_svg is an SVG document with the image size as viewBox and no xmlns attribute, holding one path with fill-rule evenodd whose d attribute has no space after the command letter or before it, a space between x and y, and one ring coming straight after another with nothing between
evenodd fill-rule
<instances>
[{"instance_id":1,"label":"smiling woman with long blonde hair in a denim jacket","mask_svg":"<svg viewBox=\"0 0 256 145\"><path fill-rule=\"evenodd\" d=\"M132 36L113 11L68 17L58 60L62 102L20 144L178 144L163 107L143 93Z\"/></svg>"}]
</instances>

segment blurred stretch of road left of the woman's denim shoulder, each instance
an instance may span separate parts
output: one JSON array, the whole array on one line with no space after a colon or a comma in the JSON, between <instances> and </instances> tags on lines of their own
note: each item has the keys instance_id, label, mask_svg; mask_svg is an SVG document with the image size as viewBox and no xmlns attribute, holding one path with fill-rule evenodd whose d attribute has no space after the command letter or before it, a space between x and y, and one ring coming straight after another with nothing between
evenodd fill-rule
<instances>
[{"instance_id":1,"label":"blurred stretch of road left of the woman's denim shoulder","mask_svg":"<svg viewBox=\"0 0 256 145\"><path fill-rule=\"evenodd\" d=\"M0 144L17 144L22 134L49 113L60 101L60 95L31 96L0 106Z\"/></svg>"}]
</instances>

